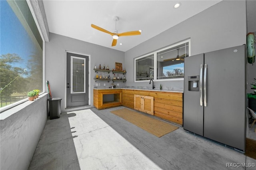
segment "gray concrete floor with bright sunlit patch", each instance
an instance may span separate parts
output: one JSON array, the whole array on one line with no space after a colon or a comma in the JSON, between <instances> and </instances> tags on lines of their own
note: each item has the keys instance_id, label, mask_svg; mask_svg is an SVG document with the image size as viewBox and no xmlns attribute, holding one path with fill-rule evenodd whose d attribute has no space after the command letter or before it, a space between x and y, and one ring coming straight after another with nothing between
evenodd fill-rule
<instances>
[{"instance_id":1,"label":"gray concrete floor with bright sunlit patch","mask_svg":"<svg viewBox=\"0 0 256 170\"><path fill-rule=\"evenodd\" d=\"M110 113L121 108L73 111L48 120L29 170L255 169L227 167L256 160L182 127L158 138Z\"/></svg>"}]
</instances>

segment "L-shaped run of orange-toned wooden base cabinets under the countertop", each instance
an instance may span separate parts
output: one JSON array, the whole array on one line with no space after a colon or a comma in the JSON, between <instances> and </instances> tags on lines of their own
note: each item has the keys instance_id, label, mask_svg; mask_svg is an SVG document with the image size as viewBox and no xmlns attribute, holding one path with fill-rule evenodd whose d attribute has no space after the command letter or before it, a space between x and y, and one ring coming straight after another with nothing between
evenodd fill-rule
<instances>
[{"instance_id":1,"label":"L-shaped run of orange-toned wooden base cabinets under the countertop","mask_svg":"<svg viewBox=\"0 0 256 170\"><path fill-rule=\"evenodd\" d=\"M104 101L103 96L108 94L114 94L114 100ZM140 97L135 97L136 95L152 98L148 99L144 97L145 100L141 101ZM137 102L135 102L136 100ZM93 101L94 107L97 109L123 105L138 110L138 108L141 109L141 105L143 105L143 110L140 111L148 111L149 114L151 113L156 117L180 125L183 124L183 93L136 89L94 89ZM144 104L142 102L144 102Z\"/></svg>"}]
</instances>

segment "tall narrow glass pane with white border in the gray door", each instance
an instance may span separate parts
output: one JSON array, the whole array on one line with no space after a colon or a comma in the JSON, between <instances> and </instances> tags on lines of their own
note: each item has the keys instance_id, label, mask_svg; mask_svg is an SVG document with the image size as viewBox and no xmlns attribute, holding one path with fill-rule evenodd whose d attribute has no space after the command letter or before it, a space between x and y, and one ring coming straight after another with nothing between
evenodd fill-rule
<instances>
[{"instance_id":1,"label":"tall narrow glass pane with white border in the gray door","mask_svg":"<svg viewBox=\"0 0 256 170\"><path fill-rule=\"evenodd\" d=\"M85 59L71 56L71 93L85 93Z\"/></svg>"}]
</instances>

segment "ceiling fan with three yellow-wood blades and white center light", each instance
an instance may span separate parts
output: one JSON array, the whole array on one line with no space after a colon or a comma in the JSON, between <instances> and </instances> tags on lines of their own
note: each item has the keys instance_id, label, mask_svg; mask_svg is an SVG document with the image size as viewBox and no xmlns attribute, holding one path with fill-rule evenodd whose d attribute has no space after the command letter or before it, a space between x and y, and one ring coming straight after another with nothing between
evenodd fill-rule
<instances>
[{"instance_id":1,"label":"ceiling fan with three yellow-wood blades and white center light","mask_svg":"<svg viewBox=\"0 0 256 170\"><path fill-rule=\"evenodd\" d=\"M113 19L114 19L114 21L118 21L119 18L118 18L118 16L114 16ZM136 36L136 35L140 35L140 31L130 31L130 32L118 33L117 30L115 30L114 32L109 32L109 31L104 30L103 28L100 28L100 27L98 27L98 26L96 26L94 24L91 24L91 27L95 28L96 30L99 30L99 31L102 31L102 32L110 34L113 37L112 46L116 45L117 39L120 36Z\"/></svg>"}]
</instances>

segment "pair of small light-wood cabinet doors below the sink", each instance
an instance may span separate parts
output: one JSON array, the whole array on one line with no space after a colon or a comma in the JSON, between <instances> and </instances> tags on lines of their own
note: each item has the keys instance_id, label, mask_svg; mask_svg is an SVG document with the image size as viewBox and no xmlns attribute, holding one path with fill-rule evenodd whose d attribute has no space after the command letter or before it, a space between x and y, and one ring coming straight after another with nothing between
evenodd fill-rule
<instances>
[{"instance_id":1,"label":"pair of small light-wood cabinet doors below the sink","mask_svg":"<svg viewBox=\"0 0 256 170\"><path fill-rule=\"evenodd\" d=\"M134 109L154 115L154 97L134 95Z\"/></svg>"}]
</instances>

